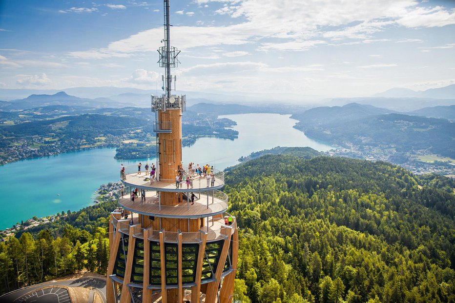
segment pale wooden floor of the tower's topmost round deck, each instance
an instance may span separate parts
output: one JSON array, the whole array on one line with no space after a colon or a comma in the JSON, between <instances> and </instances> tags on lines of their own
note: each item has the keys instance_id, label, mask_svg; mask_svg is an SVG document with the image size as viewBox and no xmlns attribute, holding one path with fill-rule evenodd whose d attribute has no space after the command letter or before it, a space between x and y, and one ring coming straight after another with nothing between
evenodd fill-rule
<instances>
[{"instance_id":1,"label":"pale wooden floor of the tower's topmost round deck","mask_svg":"<svg viewBox=\"0 0 455 303\"><path fill-rule=\"evenodd\" d=\"M212 190L212 189L218 189L224 186L224 179L217 178L215 177L215 182L213 186L211 185L211 182L208 183L207 186L207 179L204 178L204 176L199 177L198 175L192 175L193 178L193 188L189 187L188 189L186 188L186 183L183 182L182 184L179 185L179 187L176 186L174 180L162 180L162 181L155 181L150 183L148 179L149 176L147 176L144 173L137 174L126 174L126 178L123 180L123 182L126 185L131 185L131 186L139 186L141 188L146 188L146 189L153 189L153 190L161 190L161 191L204 191L204 190Z\"/></svg>"}]
</instances>

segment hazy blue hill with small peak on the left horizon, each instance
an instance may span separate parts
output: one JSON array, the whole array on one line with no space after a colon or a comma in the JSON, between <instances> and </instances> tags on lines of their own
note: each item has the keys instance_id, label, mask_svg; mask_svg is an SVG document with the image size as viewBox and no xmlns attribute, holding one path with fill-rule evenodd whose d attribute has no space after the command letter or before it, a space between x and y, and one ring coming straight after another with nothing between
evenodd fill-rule
<instances>
[{"instance_id":1,"label":"hazy blue hill with small peak on the left horizon","mask_svg":"<svg viewBox=\"0 0 455 303\"><path fill-rule=\"evenodd\" d=\"M30 95L25 99L18 99L9 102L7 109L26 109L46 105L78 105L87 107L123 107L124 104L107 98L86 99L71 96L65 92L58 92L54 95Z\"/></svg>"}]
</instances>

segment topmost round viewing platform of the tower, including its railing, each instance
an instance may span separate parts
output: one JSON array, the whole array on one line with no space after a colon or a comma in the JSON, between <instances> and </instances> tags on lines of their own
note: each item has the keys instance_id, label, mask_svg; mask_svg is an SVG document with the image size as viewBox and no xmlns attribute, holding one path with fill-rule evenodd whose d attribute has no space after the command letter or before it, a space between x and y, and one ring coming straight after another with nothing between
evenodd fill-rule
<instances>
[{"instance_id":1,"label":"topmost round viewing platform of the tower, including its railing","mask_svg":"<svg viewBox=\"0 0 455 303\"><path fill-rule=\"evenodd\" d=\"M211 172L209 178L204 175L199 175L194 172L188 173L186 176L189 176L189 184L186 184L185 180L182 182L177 182L176 179L160 179L160 180L150 180L149 174L145 173L144 165L141 168L141 173L138 173L137 165L125 166L125 173L120 173L120 179L126 186L133 186L144 188L147 190L154 191L170 191L170 192L201 192L207 190L220 189L225 185L225 173L224 171L214 169ZM155 175L156 176L156 175ZM156 179L156 178L155 178Z\"/></svg>"}]
</instances>

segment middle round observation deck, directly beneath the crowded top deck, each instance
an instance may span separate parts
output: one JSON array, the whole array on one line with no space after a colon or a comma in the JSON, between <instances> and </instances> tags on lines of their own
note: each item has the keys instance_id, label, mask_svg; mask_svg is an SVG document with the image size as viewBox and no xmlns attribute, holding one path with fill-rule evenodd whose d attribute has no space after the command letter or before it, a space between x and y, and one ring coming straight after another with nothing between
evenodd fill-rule
<instances>
[{"instance_id":1,"label":"middle round observation deck, directly beneath the crowded top deck","mask_svg":"<svg viewBox=\"0 0 455 303\"><path fill-rule=\"evenodd\" d=\"M119 198L119 204L132 213L181 219L216 216L223 214L228 209L228 195L219 190L213 190L207 195L196 193L195 196L194 204L191 204L190 199L185 198L178 205L171 206L161 205L160 197L156 191L147 190L145 192L145 202L141 201L141 193L139 193L139 198L132 201L131 195L125 192L124 196Z\"/></svg>"}]
</instances>

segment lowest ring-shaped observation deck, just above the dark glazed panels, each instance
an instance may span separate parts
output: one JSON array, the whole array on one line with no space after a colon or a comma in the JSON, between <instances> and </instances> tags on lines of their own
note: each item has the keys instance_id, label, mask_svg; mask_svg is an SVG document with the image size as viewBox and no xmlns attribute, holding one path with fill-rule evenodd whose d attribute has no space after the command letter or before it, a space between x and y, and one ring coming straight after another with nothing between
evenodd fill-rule
<instances>
[{"instance_id":1,"label":"lowest ring-shaped observation deck, just above the dark glazed panels","mask_svg":"<svg viewBox=\"0 0 455 303\"><path fill-rule=\"evenodd\" d=\"M115 214L115 213L112 213ZM197 232L172 232L165 230L153 230L151 227L142 228L139 218L133 216L133 224L129 224L129 219L127 220L117 220L115 218L111 219L113 226L119 226L118 231L124 235L130 234L132 230L132 236L137 239L144 239L146 237L149 241L160 241L160 233L163 233L164 242L166 243L177 243L179 234L182 234L182 243L200 243L202 241L203 234L207 234L207 242L214 242L218 240L226 239L231 237L235 231L235 217L233 217L232 225L225 225L223 218L213 218L213 219L204 219L205 226L203 226ZM119 224L119 225L117 225ZM223 232L223 230L228 229L228 232ZM117 228L115 229L117 232Z\"/></svg>"}]
</instances>

